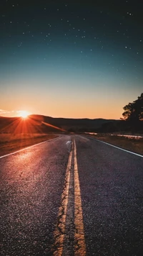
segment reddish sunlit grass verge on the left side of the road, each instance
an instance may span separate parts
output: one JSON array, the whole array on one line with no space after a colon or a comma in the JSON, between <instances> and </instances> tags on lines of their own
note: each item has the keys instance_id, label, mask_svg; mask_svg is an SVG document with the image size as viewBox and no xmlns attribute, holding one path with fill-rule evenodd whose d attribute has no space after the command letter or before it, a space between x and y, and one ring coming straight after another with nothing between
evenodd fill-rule
<instances>
[{"instance_id":1,"label":"reddish sunlit grass verge on the left side of the road","mask_svg":"<svg viewBox=\"0 0 143 256\"><path fill-rule=\"evenodd\" d=\"M58 136L58 134L0 134L0 156Z\"/></svg>"}]
</instances>

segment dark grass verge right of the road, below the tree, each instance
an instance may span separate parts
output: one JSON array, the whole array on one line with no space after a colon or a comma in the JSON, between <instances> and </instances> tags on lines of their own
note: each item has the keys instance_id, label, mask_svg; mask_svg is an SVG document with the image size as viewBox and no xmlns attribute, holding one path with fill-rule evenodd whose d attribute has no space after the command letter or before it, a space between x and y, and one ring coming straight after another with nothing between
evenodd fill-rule
<instances>
[{"instance_id":1,"label":"dark grass verge right of the road, below the tree","mask_svg":"<svg viewBox=\"0 0 143 256\"><path fill-rule=\"evenodd\" d=\"M122 147L125 150L129 150L137 154L143 155L143 138L136 139L134 137L122 137L109 134L97 134L90 136L96 138L97 140L102 140L117 147Z\"/></svg>"}]
</instances>

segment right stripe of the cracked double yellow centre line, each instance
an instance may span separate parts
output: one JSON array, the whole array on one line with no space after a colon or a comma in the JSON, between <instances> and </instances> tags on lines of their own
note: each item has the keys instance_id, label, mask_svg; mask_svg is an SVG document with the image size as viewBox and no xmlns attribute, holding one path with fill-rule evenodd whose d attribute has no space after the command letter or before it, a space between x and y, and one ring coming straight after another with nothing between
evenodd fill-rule
<instances>
[{"instance_id":1,"label":"right stripe of the cracked double yellow centre line","mask_svg":"<svg viewBox=\"0 0 143 256\"><path fill-rule=\"evenodd\" d=\"M74 225L75 225L75 245L74 255L86 255L86 244L84 237L84 221L82 214L82 199L79 186L79 173L77 166L77 148L74 140Z\"/></svg>"}]
</instances>

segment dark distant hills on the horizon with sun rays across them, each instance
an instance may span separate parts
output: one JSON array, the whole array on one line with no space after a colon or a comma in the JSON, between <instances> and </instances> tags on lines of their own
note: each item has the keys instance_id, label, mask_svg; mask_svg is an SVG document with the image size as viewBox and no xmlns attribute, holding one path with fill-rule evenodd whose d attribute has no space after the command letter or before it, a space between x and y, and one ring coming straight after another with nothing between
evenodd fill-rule
<instances>
[{"instance_id":1,"label":"dark distant hills on the horizon with sun rays across them","mask_svg":"<svg viewBox=\"0 0 143 256\"><path fill-rule=\"evenodd\" d=\"M118 120L119 121L119 120ZM0 116L0 132L46 133L46 132L92 132L114 119L68 119L32 114L27 119Z\"/></svg>"}]
</instances>

